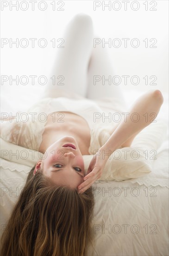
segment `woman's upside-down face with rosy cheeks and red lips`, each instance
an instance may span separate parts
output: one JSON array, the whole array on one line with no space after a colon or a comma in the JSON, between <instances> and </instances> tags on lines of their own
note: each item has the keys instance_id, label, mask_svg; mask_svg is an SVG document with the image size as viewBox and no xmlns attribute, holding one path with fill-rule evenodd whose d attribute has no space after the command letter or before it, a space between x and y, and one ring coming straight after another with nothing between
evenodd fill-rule
<instances>
[{"instance_id":1,"label":"woman's upside-down face with rosy cheeks and red lips","mask_svg":"<svg viewBox=\"0 0 169 256\"><path fill-rule=\"evenodd\" d=\"M68 147L71 145L73 148ZM70 188L77 188L85 175L83 157L72 136L64 136L47 148L44 159L37 162L34 174L40 167L56 185Z\"/></svg>"}]
</instances>

